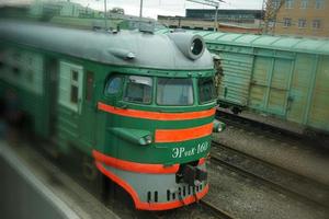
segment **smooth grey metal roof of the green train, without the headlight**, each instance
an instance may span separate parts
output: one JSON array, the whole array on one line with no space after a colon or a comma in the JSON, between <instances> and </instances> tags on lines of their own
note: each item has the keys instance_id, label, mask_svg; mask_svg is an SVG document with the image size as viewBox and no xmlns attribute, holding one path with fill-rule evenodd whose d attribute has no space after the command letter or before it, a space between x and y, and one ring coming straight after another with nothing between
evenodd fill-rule
<instances>
[{"instance_id":1,"label":"smooth grey metal roof of the green train, without the headlight","mask_svg":"<svg viewBox=\"0 0 329 219\"><path fill-rule=\"evenodd\" d=\"M0 21L0 41L109 65L172 70L213 68L212 56L207 50L198 59L192 60L184 56L168 35L138 31L113 34L39 23ZM134 54L134 58L124 59L115 55L126 51Z\"/></svg>"}]
</instances>

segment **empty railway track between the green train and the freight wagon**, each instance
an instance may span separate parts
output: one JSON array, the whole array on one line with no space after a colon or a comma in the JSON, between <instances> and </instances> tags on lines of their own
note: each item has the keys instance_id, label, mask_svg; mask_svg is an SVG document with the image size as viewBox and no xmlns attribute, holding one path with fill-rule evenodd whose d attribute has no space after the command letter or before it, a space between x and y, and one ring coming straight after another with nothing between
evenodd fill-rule
<instances>
[{"instance_id":1,"label":"empty railway track between the green train and the freight wagon","mask_svg":"<svg viewBox=\"0 0 329 219\"><path fill-rule=\"evenodd\" d=\"M329 187L213 141L211 160L303 203L329 207Z\"/></svg>"}]
</instances>

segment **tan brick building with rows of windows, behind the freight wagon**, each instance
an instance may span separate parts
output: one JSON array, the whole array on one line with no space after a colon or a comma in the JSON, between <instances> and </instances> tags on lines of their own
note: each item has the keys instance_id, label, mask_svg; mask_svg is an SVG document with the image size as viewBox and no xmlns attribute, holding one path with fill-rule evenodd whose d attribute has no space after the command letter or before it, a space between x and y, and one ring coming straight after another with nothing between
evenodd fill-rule
<instances>
[{"instance_id":1,"label":"tan brick building with rows of windows, behind the freight wagon","mask_svg":"<svg viewBox=\"0 0 329 219\"><path fill-rule=\"evenodd\" d=\"M277 12L274 32L329 37L329 0L286 0Z\"/></svg>"}]
</instances>

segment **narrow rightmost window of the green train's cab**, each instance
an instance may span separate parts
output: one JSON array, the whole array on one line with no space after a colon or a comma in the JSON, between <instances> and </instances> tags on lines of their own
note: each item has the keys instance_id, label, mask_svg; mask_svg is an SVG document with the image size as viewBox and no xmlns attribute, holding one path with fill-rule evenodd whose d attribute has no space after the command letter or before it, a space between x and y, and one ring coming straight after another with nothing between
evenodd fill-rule
<instances>
[{"instance_id":1,"label":"narrow rightmost window of the green train's cab","mask_svg":"<svg viewBox=\"0 0 329 219\"><path fill-rule=\"evenodd\" d=\"M212 77L198 79L197 87L201 103L207 103L215 100L215 84Z\"/></svg>"}]
</instances>

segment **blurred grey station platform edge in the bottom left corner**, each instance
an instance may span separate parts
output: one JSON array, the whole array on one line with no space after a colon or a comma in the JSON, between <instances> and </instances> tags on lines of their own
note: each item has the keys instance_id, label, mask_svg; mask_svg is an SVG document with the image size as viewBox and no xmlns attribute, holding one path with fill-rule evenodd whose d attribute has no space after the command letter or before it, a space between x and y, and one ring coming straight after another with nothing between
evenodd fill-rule
<instances>
[{"instance_id":1,"label":"blurred grey station platform edge in the bottom left corner","mask_svg":"<svg viewBox=\"0 0 329 219\"><path fill-rule=\"evenodd\" d=\"M2 219L120 218L30 147L0 140L0 175Z\"/></svg>"}]
</instances>

